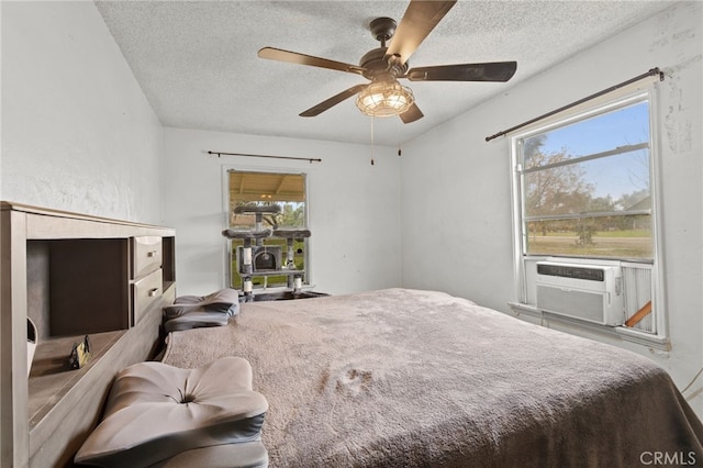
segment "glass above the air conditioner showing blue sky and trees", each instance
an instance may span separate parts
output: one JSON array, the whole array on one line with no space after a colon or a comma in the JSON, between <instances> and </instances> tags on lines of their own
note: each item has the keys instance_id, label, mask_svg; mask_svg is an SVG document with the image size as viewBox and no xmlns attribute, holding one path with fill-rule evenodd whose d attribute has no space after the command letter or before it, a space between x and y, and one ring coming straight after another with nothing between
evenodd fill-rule
<instances>
[{"instance_id":1,"label":"glass above the air conditioner showing blue sky and trees","mask_svg":"<svg viewBox=\"0 0 703 468\"><path fill-rule=\"evenodd\" d=\"M524 254L652 258L646 100L518 146Z\"/></svg>"}]
</instances>

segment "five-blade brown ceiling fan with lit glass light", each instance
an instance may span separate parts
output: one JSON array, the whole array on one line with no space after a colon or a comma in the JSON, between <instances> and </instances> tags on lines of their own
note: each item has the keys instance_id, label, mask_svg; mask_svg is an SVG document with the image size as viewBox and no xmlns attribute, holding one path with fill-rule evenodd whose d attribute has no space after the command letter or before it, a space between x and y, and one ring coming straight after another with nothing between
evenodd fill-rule
<instances>
[{"instance_id":1,"label":"five-blade brown ceiling fan with lit glass light","mask_svg":"<svg viewBox=\"0 0 703 468\"><path fill-rule=\"evenodd\" d=\"M300 116L315 116L339 102L357 96L356 105L367 115L399 115L404 123L411 123L424 115L415 103L412 90L398 80L411 81L502 81L513 77L516 62L494 62L487 64L458 64L433 67L410 68L408 59L454 7L457 0L419 1L411 0L400 24L390 18L371 21L371 35L381 46L369 51L359 65L345 64L297 52L275 47L264 47L260 58L289 62L299 65L327 68L361 75L371 80L346 89L300 113ZM389 46L387 42L393 38ZM410 68L410 69L409 69Z\"/></svg>"}]
</instances>

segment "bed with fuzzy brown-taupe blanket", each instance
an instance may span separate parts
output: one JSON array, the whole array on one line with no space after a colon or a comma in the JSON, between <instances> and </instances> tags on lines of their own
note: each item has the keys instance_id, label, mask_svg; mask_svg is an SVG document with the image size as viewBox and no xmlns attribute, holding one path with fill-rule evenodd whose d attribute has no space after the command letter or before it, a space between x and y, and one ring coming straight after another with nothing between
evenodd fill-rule
<instances>
[{"instance_id":1,"label":"bed with fuzzy brown-taupe blanket","mask_svg":"<svg viewBox=\"0 0 703 468\"><path fill-rule=\"evenodd\" d=\"M167 341L172 366L250 363L271 467L703 466L650 359L443 292L250 302Z\"/></svg>"}]
</instances>

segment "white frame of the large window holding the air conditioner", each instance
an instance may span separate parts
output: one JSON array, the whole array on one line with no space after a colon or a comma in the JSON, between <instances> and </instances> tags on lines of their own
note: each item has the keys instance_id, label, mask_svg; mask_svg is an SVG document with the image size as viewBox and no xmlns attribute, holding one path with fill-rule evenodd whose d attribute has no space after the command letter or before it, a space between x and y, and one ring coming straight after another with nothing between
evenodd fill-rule
<instances>
[{"instance_id":1,"label":"white frame of the large window holding the air conditioner","mask_svg":"<svg viewBox=\"0 0 703 468\"><path fill-rule=\"evenodd\" d=\"M527 312L532 315L542 317L545 320L545 314L539 311L535 303L534 298L531 298L531 288L534 289L534 279L528 278L527 265L529 263L536 263L538 260L550 259L561 261L572 261L577 259L584 265L603 265L604 263L611 263L613 259L604 259L596 257L572 257L572 256L555 256L555 255L531 255L525 250L525 235L524 233L524 212L525 203L523 200L523 171L522 171L522 154L521 142L548 132L550 130L561 127L565 125L573 124L579 121L596 118L598 115L606 112L615 111L617 109L633 105L638 102L647 102L649 109L649 178L650 178L650 196L651 196L651 259L615 259L615 261L622 261L623 264L641 264L650 265L651 268L651 304L652 304L652 317L655 323L655 333L641 332L635 328L629 328L624 325L610 327L605 325L592 324L576 319L563 320L569 322L570 325L576 325L580 328L591 330L595 332L602 332L606 334L615 334L623 339L632 341L648 346L655 346L660 348L669 348L669 332L667 311L665 309L666 298L666 281L662 275L663 265L663 247L662 247L662 223L661 223L661 190L660 190L660 151L657 115L657 99L656 88L654 85L646 85L644 87L626 88L623 90L616 90L592 102L587 102L577 108L572 108L534 124L521 129L514 133L509 134L510 138L510 153L511 153L511 190L512 190L512 223L513 223L513 279L514 279L514 293L515 302L511 302L510 305L517 312ZM549 315L551 317L551 315ZM551 317L554 319L554 317ZM557 320L561 320L558 317Z\"/></svg>"}]
</instances>

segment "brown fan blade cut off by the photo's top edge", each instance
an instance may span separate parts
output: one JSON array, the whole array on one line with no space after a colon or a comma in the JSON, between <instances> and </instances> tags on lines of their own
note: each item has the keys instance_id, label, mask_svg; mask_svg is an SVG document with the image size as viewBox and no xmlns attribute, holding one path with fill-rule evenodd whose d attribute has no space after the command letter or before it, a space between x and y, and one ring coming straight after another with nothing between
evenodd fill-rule
<instances>
[{"instance_id":1,"label":"brown fan blade cut off by the photo's top edge","mask_svg":"<svg viewBox=\"0 0 703 468\"><path fill-rule=\"evenodd\" d=\"M416 1L411 0L403 19L398 24L386 57L398 56L401 64L415 52L420 44L435 29L457 0Z\"/></svg>"}]
</instances>

